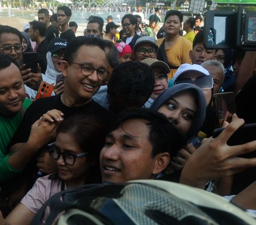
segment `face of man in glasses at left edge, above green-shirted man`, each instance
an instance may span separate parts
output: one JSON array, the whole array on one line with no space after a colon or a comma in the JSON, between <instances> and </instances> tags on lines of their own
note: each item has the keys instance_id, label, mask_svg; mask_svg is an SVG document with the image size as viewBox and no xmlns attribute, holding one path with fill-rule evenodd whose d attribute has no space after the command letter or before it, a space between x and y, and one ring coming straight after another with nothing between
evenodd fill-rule
<instances>
[{"instance_id":1,"label":"face of man in glasses at left edge, above green-shirted man","mask_svg":"<svg viewBox=\"0 0 256 225\"><path fill-rule=\"evenodd\" d=\"M21 45L20 43L20 38L16 34L11 34L11 33L3 33L0 35L0 48L6 45ZM1 51L1 53L3 53ZM5 53L3 53L5 54ZM16 62L20 63L22 59L22 51L20 53L17 53L13 48L10 53L10 56L13 57Z\"/></svg>"}]
</instances>

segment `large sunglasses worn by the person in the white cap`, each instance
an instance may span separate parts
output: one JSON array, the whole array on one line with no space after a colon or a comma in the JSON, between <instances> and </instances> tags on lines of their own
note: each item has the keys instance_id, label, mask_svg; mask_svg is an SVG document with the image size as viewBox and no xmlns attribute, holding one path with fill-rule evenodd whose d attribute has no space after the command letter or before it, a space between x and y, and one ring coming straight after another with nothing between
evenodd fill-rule
<instances>
[{"instance_id":1,"label":"large sunglasses worn by the person in the white cap","mask_svg":"<svg viewBox=\"0 0 256 225\"><path fill-rule=\"evenodd\" d=\"M174 85L189 83L196 85L197 87L201 88L202 90L211 89L213 88L213 78L211 75L203 75L197 77L195 80L191 80L191 78L179 78L175 80Z\"/></svg>"}]
</instances>

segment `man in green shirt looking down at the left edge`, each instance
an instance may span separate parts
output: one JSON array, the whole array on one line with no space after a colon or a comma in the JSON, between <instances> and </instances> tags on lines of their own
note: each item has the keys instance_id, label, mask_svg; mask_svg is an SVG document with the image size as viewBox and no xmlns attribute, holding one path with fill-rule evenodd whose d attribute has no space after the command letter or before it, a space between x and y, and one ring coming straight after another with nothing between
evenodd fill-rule
<instances>
[{"instance_id":1,"label":"man in green shirt looking down at the left edge","mask_svg":"<svg viewBox=\"0 0 256 225\"><path fill-rule=\"evenodd\" d=\"M18 63L9 55L0 55L0 182L19 171L9 164L12 154L8 154L7 145L31 104L25 97Z\"/></svg>"}]
</instances>

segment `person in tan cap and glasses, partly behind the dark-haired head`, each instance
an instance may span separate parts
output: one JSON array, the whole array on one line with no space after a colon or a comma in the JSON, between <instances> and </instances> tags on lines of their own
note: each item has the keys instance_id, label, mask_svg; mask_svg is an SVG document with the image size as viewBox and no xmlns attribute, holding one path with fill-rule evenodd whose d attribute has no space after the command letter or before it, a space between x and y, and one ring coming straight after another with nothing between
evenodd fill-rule
<instances>
[{"instance_id":1,"label":"person in tan cap and glasses, partly behind the dark-haired head","mask_svg":"<svg viewBox=\"0 0 256 225\"><path fill-rule=\"evenodd\" d=\"M147 64L153 70L155 76L153 93L144 105L145 108L149 108L158 95L162 94L163 91L168 88L167 74L170 72L170 67L165 62L157 59L148 58L142 60L141 62Z\"/></svg>"}]
</instances>

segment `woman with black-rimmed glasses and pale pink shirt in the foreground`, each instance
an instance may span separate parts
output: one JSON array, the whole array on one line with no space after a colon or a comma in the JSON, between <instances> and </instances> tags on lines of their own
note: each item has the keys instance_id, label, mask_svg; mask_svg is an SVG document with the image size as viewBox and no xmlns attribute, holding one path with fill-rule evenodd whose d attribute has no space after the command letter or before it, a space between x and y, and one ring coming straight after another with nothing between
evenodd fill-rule
<instances>
[{"instance_id":1,"label":"woman with black-rimmed glasses and pale pink shirt in the foreground","mask_svg":"<svg viewBox=\"0 0 256 225\"><path fill-rule=\"evenodd\" d=\"M60 111L50 112L58 115ZM43 115L43 120L46 116ZM60 123L55 142L47 146L50 156L57 163L58 172L38 178L5 222L10 225L30 224L36 212L52 195L69 188L100 183L99 155L105 136L103 123L90 114L70 116ZM49 212L46 209L44 218Z\"/></svg>"}]
</instances>

